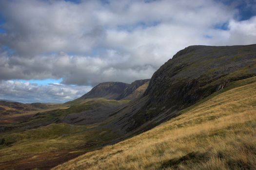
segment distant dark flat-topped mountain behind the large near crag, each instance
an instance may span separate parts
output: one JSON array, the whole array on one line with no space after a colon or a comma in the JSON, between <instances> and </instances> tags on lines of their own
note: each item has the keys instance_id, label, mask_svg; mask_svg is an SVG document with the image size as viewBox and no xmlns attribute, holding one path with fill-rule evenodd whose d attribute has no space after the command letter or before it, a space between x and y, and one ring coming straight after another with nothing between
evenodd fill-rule
<instances>
[{"instance_id":1,"label":"distant dark flat-topped mountain behind the large near crag","mask_svg":"<svg viewBox=\"0 0 256 170\"><path fill-rule=\"evenodd\" d=\"M104 99L115 99L121 100L132 94L139 86L144 85L150 79L137 80L131 84L121 82L104 82L93 87L91 91L81 97L81 99L93 99L93 98L104 98ZM138 97L134 95L135 97ZM132 99L130 96L129 99Z\"/></svg>"}]
</instances>

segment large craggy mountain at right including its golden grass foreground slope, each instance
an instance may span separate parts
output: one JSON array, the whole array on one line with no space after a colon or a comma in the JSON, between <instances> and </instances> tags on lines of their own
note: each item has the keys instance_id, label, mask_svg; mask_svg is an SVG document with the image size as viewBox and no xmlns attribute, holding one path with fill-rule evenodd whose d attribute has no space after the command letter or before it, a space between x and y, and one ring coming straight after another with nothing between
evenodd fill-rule
<instances>
[{"instance_id":1,"label":"large craggy mountain at right including its golden grass foreground slope","mask_svg":"<svg viewBox=\"0 0 256 170\"><path fill-rule=\"evenodd\" d=\"M54 170L256 169L255 103L256 45L190 46L113 113L106 127L133 137Z\"/></svg>"}]
</instances>

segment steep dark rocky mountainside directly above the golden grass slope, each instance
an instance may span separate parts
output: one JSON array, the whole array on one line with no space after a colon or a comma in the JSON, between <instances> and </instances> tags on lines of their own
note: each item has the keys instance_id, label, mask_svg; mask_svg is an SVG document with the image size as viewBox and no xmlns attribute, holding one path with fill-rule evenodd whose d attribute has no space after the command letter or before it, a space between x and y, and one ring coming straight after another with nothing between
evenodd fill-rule
<instances>
[{"instance_id":1,"label":"steep dark rocky mountainside directly above the golden grass slope","mask_svg":"<svg viewBox=\"0 0 256 170\"><path fill-rule=\"evenodd\" d=\"M126 132L149 129L231 82L255 75L256 45L187 47L154 73L144 98L136 101L145 104L122 119L119 123L125 126L120 128ZM127 111L121 112L123 116Z\"/></svg>"}]
</instances>

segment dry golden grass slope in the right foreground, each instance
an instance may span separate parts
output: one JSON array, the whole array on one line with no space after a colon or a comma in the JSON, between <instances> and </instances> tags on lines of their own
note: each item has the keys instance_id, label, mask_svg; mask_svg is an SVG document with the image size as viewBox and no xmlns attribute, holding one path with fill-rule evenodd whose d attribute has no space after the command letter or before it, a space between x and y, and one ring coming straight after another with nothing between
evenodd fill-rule
<instances>
[{"instance_id":1,"label":"dry golden grass slope in the right foreground","mask_svg":"<svg viewBox=\"0 0 256 170\"><path fill-rule=\"evenodd\" d=\"M150 131L54 169L256 169L256 83L221 93Z\"/></svg>"}]
</instances>

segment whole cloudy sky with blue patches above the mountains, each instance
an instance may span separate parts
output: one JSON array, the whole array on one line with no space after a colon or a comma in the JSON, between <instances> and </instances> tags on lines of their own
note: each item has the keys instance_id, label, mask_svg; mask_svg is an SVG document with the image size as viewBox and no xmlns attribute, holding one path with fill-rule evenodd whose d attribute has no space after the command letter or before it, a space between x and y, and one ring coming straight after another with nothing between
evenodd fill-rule
<instances>
[{"instance_id":1,"label":"whole cloudy sky with blue patches above the mountains","mask_svg":"<svg viewBox=\"0 0 256 170\"><path fill-rule=\"evenodd\" d=\"M0 99L67 102L190 45L256 43L256 0L0 0Z\"/></svg>"}]
</instances>

